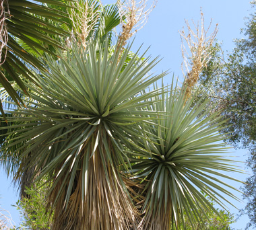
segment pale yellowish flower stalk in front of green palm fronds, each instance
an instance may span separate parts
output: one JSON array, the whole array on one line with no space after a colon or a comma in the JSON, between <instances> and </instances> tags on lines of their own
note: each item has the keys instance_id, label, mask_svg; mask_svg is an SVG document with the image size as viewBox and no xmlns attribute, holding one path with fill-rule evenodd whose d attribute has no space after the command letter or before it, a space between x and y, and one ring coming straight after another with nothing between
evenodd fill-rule
<instances>
[{"instance_id":1,"label":"pale yellowish flower stalk in front of green palm fronds","mask_svg":"<svg viewBox=\"0 0 256 230\"><path fill-rule=\"evenodd\" d=\"M98 22L98 10L97 8L99 1L94 0L88 3L88 1L77 0L71 2L71 9L69 11L69 19L72 23L71 39L78 40L82 43L82 46L86 48L88 36L95 24ZM67 41L68 42L68 41Z\"/></svg>"}]
</instances>

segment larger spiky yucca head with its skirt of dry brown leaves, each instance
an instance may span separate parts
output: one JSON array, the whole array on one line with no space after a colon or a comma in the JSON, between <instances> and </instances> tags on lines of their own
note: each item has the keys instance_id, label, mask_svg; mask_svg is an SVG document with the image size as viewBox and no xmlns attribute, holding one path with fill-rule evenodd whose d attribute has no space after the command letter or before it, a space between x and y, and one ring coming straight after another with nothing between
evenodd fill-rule
<instances>
[{"instance_id":1,"label":"larger spiky yucca head with its skirt of dry brown leaves","mask_svg":"<svg viewBox=\"0 0 256 230\"><path fill-rule=\"evenodd\" d=\"M138 124L151 122L141 108L160 91L140 92L165 73L149 75L156 59L142 61L138 52L125 63L130 47L120 61L121 50L109 55L93 42L87 47L73 44L59 61L48 56L49 71L26 83L31 98L24 99L26 108L9 111L10 121L21 123L11 127L1 153L18 146L18 176L34 165L38 180L52 176L56 229L129 229L136 210L119 171L129 165L124 141L139 135Z\"/></svg>"}]
</instances>

